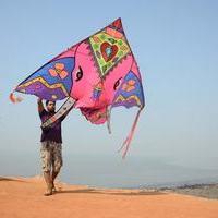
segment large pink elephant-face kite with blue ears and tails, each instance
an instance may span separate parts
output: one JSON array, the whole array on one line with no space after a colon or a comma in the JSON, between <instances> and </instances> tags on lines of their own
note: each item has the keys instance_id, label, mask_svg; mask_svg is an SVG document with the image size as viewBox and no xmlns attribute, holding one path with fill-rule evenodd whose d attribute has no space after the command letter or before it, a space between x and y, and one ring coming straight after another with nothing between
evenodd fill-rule
<instances>
[{"instance_id":1,"label":"large pink elephant-face kite with blue ears and tails","mask_svg":"<svg viewBox=\"0 0 218 218\"><path fill-rule=\"evenodd\" d=\"M57 113L43 123L43 128L74 107L80 108L92 123L108 122L110 130L112 108L137 106L140 110L122 146L123 157L144 107L140 70L121 19L50 60L20 83L14 92L47 100L66 99ZM21 101L13 93L10 98L13 102Z\"/></svg>"}]
</instances>

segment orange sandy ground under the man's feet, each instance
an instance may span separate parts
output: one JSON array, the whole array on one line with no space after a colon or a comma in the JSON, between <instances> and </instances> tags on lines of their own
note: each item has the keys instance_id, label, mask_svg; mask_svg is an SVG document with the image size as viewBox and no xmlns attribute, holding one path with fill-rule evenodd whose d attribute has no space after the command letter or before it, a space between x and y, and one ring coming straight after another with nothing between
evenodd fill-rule
<instances>
[{"instance_id":1,"label":"orange sandy ground under the man's feet","mask_svg":"<svg viewBox=\"0 0 218 218\"><path fill-rule=\"evenodd\" d=\"M218 201L153 190L102 190L58 183L44 196L41 178L0 178L1 218L207 218Z\"/></svg>"}]
</instances>

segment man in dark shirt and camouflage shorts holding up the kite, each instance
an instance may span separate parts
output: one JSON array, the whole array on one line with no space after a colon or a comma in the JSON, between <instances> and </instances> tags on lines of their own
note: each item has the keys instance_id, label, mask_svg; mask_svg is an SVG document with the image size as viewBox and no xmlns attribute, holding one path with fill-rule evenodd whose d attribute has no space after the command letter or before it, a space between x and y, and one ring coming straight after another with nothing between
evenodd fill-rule
<instances>
[{"instance_id":1,"label":"man in dark shirt and camouflage shorts holding up the kite","mask_svg":"<svg viewBox=\"0 0 218 218\"><path fill-rule=\"evenodd\" d=\"M46 109L43 100L38 98L38 113L44 123L56 113L56 101L46 100ZM41 167L44 179L47 184L46 196L56 192L55 180L62 167L62 133L61 123L66 114L59 118L56 122L47 128L41 128Z\"/></svg>"}]
</instances>

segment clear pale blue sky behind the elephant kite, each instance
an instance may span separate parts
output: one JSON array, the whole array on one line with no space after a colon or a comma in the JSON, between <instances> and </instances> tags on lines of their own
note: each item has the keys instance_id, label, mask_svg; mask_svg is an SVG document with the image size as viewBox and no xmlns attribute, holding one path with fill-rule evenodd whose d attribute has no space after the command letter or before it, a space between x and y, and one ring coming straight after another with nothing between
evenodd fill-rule
<instances>
[{"instance_id":1,"label":"clear pale blue sky behind the elephant kite","mask_svg":"<svg viewBox=\"0 0 218 218\"><path fill-rule=\"evenodd\" d=\"M37 152L36 97L21 104L10 92L40 65L117 17L137 60L145 109L128 159L166 158L181 166L218 168L218 1L0 0L0 158ZM136 109L112 111L112 134L72 111L63 144L73 156L117 150ZM9 157L10 158L10 157Z\"/></svg>"}]
</instances>

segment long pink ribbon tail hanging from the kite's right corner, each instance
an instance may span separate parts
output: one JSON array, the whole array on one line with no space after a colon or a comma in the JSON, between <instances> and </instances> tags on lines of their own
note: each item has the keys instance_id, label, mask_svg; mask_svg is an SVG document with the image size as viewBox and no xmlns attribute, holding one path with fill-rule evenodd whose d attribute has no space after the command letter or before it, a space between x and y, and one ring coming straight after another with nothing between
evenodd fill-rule
<instances>
[{"instance_id":1,"label":"long pink ribbon tail hanging from the kite's right corner","mask_svg":"<svg viewBox=\"0 0 218 218\"><path fill-rule=\"evenodd\" d=\"M134 132L135 132L135 128L137 125L137 121L138 121L141 111L142 111L142 108L137 111L137 114L135 117L135 120L134 120L134 123L133 123L133 125L131 128L131 131L130 131L128 137L125 138L125 141L123 142L121 148L119 149L119 152L123 149L123 154L122 154L122 158L123 159L125 158L125 156L128 154L128 150L130 148L130 144L131 144L131 141L133 138L133 135L134 135Z\"/></svg>"}]
</instances>

